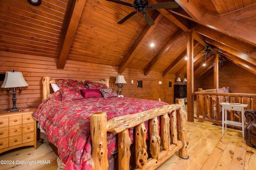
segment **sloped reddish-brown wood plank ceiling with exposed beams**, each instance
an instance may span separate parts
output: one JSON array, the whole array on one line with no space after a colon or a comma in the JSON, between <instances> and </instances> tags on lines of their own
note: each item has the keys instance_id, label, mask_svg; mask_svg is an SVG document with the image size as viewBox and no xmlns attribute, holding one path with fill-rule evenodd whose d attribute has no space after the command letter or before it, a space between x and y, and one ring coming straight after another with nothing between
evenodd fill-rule
<instances>
[{"instance_id":1,"label":"sloped reddish-brown wood plank ceiling with exposed beams","mask_svg":"<svg viewBox=\"0 0 256 170\"><path fill-rule=\"evenodd\" d=\"M172 0L169 0L172 1ZM0 51L186 75L186 33L194 36L194 77L212 69L210 46L224 59L256 74L256 0L175 0L178 8L147 10L123 24L134 8L106 0L0 0ZM127 0L133 3L133 0ZM148 0L149 4L168 0ZM154 47L150 47L154 43ZM206 66L202 66L206 63Z\"/></svg>"}]
</instances>

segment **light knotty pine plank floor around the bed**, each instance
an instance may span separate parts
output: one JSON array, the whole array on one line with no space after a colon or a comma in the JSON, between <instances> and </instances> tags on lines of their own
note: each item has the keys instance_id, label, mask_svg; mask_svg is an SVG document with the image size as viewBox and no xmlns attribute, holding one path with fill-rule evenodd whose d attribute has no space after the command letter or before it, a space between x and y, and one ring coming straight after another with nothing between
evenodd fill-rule
<instances>
[{"instance_id":1,"label":"light knotty pine plank floor around the bed","mask_svg":"<svg viewBox=\"0 0 256 170\"><path fill-rule=\"evenodd\" d=\"M242 131L222 128L208 122L186 123L189 159L174 154L157 170L256 170L256 148L246 146ZM46 143L34 147L14 149L0 154L0 160L14 160L14 164L0 164L0 170L56 170L57 156ZM37 161L46 160L50 164ZM16 161L36 161L32 165L16 164ZM21 162L20 162L21 163Z\"/></svg>"}]
</instances>

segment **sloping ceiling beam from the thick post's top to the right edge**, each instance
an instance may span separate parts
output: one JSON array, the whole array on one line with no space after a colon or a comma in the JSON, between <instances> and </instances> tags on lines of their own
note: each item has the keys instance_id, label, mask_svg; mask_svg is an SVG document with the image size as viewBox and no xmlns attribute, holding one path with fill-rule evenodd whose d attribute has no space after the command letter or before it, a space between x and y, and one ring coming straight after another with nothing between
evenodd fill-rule
<instances>
[{"instance_id":1,"label":"sloping ceiling beam from the thick post's top to the right edge","mask_svg":"<svg viewBox=\"0 0 256 170\"><path fill-rule=\"evenodd\" d=\"M214 39L217 42L220 42L228 47L237 49L238 51L241 51L242 53L245 53L250 57L256 58L256 48L252 45L248 45L247 43L241 42L239 40L226 36L220 32L216 32L210 28L206 28L204 26L195 26L193 30L203 36Z\"/></svg>"}]
</instances>

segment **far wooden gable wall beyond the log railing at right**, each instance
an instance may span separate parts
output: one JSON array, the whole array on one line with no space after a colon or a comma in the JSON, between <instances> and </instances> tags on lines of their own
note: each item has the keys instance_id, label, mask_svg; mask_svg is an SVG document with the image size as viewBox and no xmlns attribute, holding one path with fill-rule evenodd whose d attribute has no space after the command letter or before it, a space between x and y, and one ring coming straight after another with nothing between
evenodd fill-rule
<instances>
[{"instance_id":1,"label":"far wooden gable wall beyond the log railing at right","mask_svg":"<svg viewBox=\"0 0 256 170\"><path fill-rule=\"evenodd\" d=\"M200 88L214 89L213 69L209 71L202 79L200 79ZM224 67L220 66L219 70L219 88L229 87L230 93L252 93L256 94L256 75L239 67L233 62L227 63ZM198 89L196 89L198 91ZM238 102L237 100L235 102ZM244 103L246 99L244 98ZM256 107L256 99L253 98L254 107Z\"/></svg>"}]
</instances>

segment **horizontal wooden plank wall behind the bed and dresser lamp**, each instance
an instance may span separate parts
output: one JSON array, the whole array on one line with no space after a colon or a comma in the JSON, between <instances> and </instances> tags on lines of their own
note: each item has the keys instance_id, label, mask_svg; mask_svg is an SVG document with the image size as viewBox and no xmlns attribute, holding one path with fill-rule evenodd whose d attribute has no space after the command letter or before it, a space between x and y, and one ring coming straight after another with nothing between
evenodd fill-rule
<instances>
[{"instance_id":1,"label":"horizontal wooden plank wall behind the bed and dresser lamp","mask_svg":"<svg viewBox=\"0 0 256 170\"><path fill-rule=\"evenodd\" d=\"M6 71L21 71L28 87L22 87L22 92L17 94L16 106L18 108L34 107L42 102L42 77L66 79L101 80L110 79L110 88L117 90L114 84L117 68L108 65L99 65L67 60L64 69L56 69L56 59L0 51L0 73ZM151 71L147 76L142 71L127 68L124 73L126 84L122 88L122 95L141 99L152 99L174 103L175 75L169 74L162 77L162 73ZM132 84L131 81L134 81ZM137 81L143 81L143 88L137 88ZM162 84L159 84L162 81ZM169 81L172 87L168 87ZM2 85L0 81L0 85ZM6 89L0 88L0 110L12 108L12 95Z\"/></svg>"}]
</instances>

